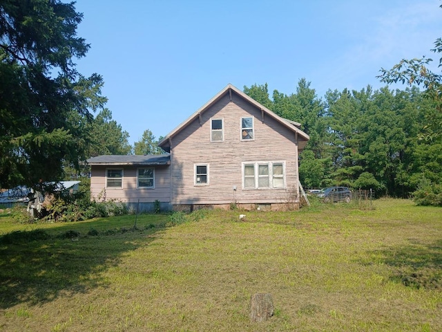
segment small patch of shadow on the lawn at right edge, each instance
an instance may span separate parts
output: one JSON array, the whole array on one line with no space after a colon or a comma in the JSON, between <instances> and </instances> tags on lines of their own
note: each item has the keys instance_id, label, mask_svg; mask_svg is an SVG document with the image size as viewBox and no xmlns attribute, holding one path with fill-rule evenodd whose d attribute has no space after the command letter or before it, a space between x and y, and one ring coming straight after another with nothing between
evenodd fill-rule
<instances>
[{"instance_id":1,"label":"small patch of shadow on the lawn at right edge","mask_svg":"<svg viewBox=\"0 0 442 332\"><path fill-rule=\"evenodd\" d=\"M414 288L442 289L442 240L423 244L410 240L407 246L376 250L383 264L394 267L394 282Z\"/></svg>"}]
</instances>

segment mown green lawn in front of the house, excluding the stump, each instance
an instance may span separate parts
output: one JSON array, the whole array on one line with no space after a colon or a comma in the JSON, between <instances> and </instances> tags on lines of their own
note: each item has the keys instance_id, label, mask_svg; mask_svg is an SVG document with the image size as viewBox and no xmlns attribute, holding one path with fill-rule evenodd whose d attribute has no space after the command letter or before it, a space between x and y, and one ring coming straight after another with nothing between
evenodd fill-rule
<instances>
[{"instance_id":1,"label":"mown green lawn in front of the house, excluding the stump","mask_svg":"<svg viewBox=\"0 0 442 332\"><path fill-rule=\"evenodd\" d=\"M0 214L0 331L442 331L442 209L368 208L141 215L135 230ZM267 322L250 322L254 293L273 297Z\"/></svg>"}]
</instances>

